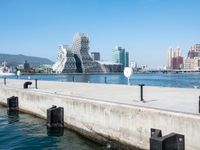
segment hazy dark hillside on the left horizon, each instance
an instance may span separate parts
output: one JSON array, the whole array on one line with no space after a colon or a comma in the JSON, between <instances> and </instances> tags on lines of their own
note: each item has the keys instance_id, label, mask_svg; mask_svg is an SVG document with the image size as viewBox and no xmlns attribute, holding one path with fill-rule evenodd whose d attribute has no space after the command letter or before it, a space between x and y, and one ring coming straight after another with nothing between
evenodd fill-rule
<instances>
[{"instance_id":1,"label":"hazy dark hillside on the left horizon","mask_svg":"<svg viewBox=\"0 0 200 150\"><path fill-rule=\"evenodd\" d=\"M25 55L10 55L0 54L0 63L3 61L7 62L8 66L15 66L17 64L23 64L25 60L30 64L53 64L53 62L47 58L25 56Z\"/></svg>"}]
</instances>

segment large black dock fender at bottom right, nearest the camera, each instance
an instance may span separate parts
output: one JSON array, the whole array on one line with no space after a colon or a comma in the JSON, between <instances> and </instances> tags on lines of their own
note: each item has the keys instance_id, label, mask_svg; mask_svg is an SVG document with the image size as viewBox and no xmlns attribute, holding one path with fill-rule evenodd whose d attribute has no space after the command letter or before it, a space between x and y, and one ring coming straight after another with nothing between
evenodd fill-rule
<instances>
[{"instance_id":1,"label":"large black dock fender at bottom right, nearest the camera","mask_svg":"<svg viewBox=\"0 0 200 150\"><path fill-rule=\"evenodd\" d=\"M151 129L150 150L185 150L185 137L170 133L162 137L162 131Z\"/></svg>"}]
</instances>

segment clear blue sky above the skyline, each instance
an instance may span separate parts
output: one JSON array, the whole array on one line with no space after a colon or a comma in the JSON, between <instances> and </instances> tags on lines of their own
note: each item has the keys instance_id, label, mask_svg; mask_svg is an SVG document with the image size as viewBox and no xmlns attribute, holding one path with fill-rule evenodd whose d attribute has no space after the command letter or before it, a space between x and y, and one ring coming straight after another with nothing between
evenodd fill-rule
<instances>
[{"instance_id":1,"label":"clear blue sky above the skyline","mask_svg":"<svg viewBox=\"0 0 200 150\"><path fill-rule=\"evenodd\" d=\"M167 49L187 55L200 43L200 0L0 0L0 53L56 60L60 44L88 33L90 52L112 60L118 45L130 61L166 65Z\"/></svg>"}]
</instances>

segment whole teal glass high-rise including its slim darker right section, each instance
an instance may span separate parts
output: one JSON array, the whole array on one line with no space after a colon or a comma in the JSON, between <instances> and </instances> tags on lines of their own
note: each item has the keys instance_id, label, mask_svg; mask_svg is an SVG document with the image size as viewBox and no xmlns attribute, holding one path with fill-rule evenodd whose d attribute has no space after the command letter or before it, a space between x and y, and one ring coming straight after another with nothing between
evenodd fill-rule
<instances>
[{"instance_id":1,"label":"whole teal glass high-rise including its slim darker right section","mask_svg":"<svg viewBox=\"0 0 200 150\"><path fill-rule=\"evenodd\" d=\"M112 61L113 63L120 63L122 67L129 66L129 53L125 52L125 49L121 46L116 46L112 50Z\"/></svg>"}]
</instances>

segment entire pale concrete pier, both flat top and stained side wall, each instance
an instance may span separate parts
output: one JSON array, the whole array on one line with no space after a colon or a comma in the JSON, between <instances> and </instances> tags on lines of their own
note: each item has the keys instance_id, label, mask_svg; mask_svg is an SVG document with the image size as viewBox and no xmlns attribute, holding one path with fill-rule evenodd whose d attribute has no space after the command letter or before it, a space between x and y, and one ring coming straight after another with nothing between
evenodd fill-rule
<instances>
[{"instance_id":1,"label":"entire pale concrete pier, both flat top and stained side wall","mask_svg":"<svg viewBox=\"0 0 200 150\"><path fill-rule=\"evenodd\" d=\"M135 86L39 81L39 89L23 89L24 82L9 80L1 86L0 102L18 96L21 110L42 118L52 105L64 107L67 127L120 149L149 149L151 128L161 129L164 135L183 134L186 150L200 149L200 90L146 87L142 103ZM154 95L155 89L160 95Z\"/></svg>"}]
</instances>

